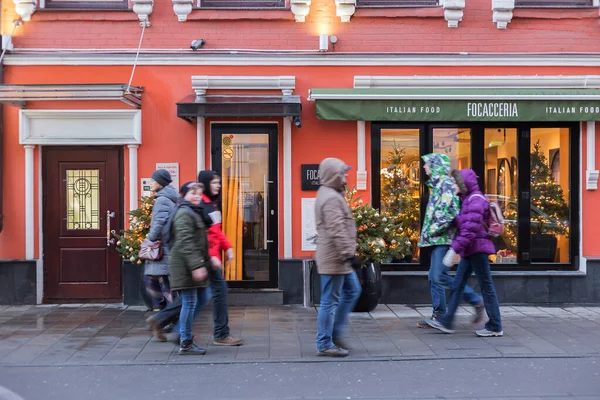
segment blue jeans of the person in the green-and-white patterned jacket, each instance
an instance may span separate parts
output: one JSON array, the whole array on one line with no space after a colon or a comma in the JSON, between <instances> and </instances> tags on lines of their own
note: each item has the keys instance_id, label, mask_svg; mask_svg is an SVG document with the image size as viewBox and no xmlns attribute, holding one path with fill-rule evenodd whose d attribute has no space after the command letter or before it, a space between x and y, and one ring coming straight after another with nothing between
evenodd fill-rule
<instances>
[{"instance_id":1,"label":"blue jeans of the person in the green-and-white patterned jacket","mask_svg":"<svg viewBox=\"0 0 600 400\"><path fill-rule=\"evenodd\" d=\"M429 289L431 290L431 303L433 313L444 314L446 312L446 289L452 289L452 277L448 268L442 264L442 260L450 246L434 246L431 252L431 266L429 267ZM481 303L481 296L469 286L465 286L462 296L466 303L476 305Z\"/></svg>"}]
</instances>

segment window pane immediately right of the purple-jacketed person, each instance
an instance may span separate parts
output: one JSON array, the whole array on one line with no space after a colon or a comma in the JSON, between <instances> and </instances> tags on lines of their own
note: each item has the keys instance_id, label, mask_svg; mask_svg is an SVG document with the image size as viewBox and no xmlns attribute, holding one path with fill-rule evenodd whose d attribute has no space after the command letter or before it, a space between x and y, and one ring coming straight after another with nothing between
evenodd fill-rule
<instances>
[{"instance_id":1,"label":"window pane immediately right of the purple-jacketed person","mask_svg":"<svg viewBox=\"0 0 600 400\"><path fill-rule=\"evenodd\" d=\"M482 191L498 203L506 220L500 237L494 238L496 254L493 263L516 264L518 241L517 130L486 128L484 130L484 187Z\"/></svg>"}]
</instances>

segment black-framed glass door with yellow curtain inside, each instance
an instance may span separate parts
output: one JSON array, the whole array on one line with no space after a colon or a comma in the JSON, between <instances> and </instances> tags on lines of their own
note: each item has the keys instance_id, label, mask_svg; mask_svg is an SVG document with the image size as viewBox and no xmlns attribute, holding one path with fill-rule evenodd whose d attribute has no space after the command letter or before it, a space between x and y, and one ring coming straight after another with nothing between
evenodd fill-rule
<instances>
[{"instance_id":1,"label":"black-framed glass door with yellow curtain inside","mask_svg":"<svg viewBox=\"0 0 600 400\"><path fill-rule=\"evenodd\" d=\"M224 276L231 287L276 287L277 125L213 124L212 143L223 232L235 254Z\"/></svg>"}]
</instances>

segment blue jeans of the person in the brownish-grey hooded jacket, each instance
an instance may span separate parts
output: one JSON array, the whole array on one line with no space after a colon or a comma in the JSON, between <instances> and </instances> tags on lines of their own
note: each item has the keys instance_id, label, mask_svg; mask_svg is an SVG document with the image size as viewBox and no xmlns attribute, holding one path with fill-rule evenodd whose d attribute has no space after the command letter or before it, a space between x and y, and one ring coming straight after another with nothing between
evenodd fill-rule
<instances>
[{"instance_id":1,"label":"blue jeans of the person in the brownish-grey hooded jacket","mask_svg":"<svg viewBox=\"0 0 600 400\"><path fill-rule=\"evenodd\" d=\"M317 351L333 347L340 339L361 287L356 272L345 275L321 275L321 307L317 317ZM341 296L340 296L341 295Z\"/></svg>"}]
</instances>

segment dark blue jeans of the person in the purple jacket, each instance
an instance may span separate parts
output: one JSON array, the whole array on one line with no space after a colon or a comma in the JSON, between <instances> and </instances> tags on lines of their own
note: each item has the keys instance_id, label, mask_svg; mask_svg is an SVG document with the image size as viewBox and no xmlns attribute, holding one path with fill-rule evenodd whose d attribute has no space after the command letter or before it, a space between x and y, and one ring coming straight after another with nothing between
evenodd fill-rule
<instances>
[{"instance_id":1,"label":"dark blue jeans of the person in the purple jacket","mask_svg":"<svg viewBox=\"0 0 600 400\"><path fill-rule=\"evenodd\" d=\"M446 328L452 329L454 325L454 314L460 304L460 298L463 295L467 281L471 273L475 271L475 276L479 281L481 294L483 295L483 304L487 312L489 321L485 324L487 330L493 332L502 331L502 321L500 317L500 306L498 305L498 296L492 282L492 271L490 270L490 260L487 254L475 253L471 256L460 260L454 284L452 285L452 293L448 300L448 311L442 315L438 321Z\"/></svg>"}]
</instances>

